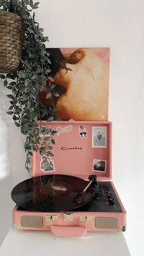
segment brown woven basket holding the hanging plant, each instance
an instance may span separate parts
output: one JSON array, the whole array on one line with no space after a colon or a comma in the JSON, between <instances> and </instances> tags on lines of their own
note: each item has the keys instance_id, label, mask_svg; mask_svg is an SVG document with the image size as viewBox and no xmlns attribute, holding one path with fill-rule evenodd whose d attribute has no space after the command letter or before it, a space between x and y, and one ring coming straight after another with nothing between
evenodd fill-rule
<instances>
[{"instance_id":1,"label":"brown woven basket holding the hanging plant","mask_svg":"<svg viewBox=\"0 0 144 256\"><path fill-rule=\"evenodd\" d=\"M0 10L0 72L18 70L23 53L24 23L15 13Z\"/></svg>"}]
</instances>

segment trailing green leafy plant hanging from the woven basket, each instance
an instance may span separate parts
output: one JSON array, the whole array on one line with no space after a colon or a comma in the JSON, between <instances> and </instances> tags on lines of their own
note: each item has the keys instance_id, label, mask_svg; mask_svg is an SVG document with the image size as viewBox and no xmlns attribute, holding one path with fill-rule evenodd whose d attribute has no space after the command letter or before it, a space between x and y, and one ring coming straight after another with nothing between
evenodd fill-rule
<instances>
[{"instance_id":1,"label":"trailing green leafy plant hanging from the woven basket","mask_svg":"<svg viewBox=\"0 0 144 256\"><path fill-rule=\"evenodd\" d=\"M35 13L31 15L32 11L38 8L38 4L39 2L34 3L32 0L0 0L0 9L20 16L25 27L20 68L12 73L1 74L0 78L4 79L4 86L10 90L7 95L10 100L7 114L12 115L15 125L26 135L24 148L27 152L27 170L31 169L32 150L35 152L39 150L41 155L53 156L51 144L55 143L52 136L56 131L51 131L49 128L50 136L48 134L41 141L37 121L40 121L43 132L42 119L48 122L59 120L56 109L43 106L38 96L46 89L49 89L51 95L59 96L54 91L52 78L48 75L51 71L49 68L51 62L44 44L48 41L48 37L44 37L43 29L35 21ZM48 84L47 79L50 81Z\"/></svg>"}]
</instances>

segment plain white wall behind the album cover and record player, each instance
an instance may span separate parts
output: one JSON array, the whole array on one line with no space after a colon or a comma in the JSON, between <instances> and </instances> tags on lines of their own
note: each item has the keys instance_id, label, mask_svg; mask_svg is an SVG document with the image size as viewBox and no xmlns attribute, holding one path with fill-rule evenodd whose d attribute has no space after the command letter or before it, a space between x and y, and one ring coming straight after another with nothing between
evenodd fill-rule
<instances>
[{"instance_id":1,"label":"plain white wall behind the album cover and record player","mask_svg":"<svg viewBox=\"0 0 144 256\"><path fill-rule=\"evenodd\" d=\"M49 47L110 47L112 180L128 212L124 236L132 256L143 255L143 9L143 0L40 0L40 8L36 11L40 26L44 28L45 35L49 35ZM20 131L12 123L9 141L13 186L27 174L23 141ZM5 138L1 144L5 144ZM7 196L5 205L9 200Z\"/></svg>"}]
</instances>

